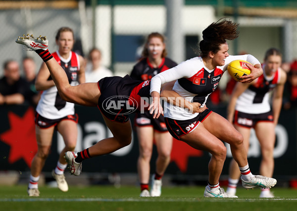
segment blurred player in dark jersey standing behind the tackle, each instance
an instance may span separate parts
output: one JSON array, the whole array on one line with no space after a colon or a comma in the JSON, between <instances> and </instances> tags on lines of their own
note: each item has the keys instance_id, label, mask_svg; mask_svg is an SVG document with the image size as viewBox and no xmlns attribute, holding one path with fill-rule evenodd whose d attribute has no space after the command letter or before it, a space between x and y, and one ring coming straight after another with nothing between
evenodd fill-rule
<instances>
[{"instance_id":1,"label":"blurred player in dark jersey standing behind the tackle","mask_svg":"<svg viewBox=\"0 0 297 211\"><path fill-rule=\"evenodd\" d=\"M175 67L177 64L166 55L164 36L157 32L149 34L142 52L142 59L133 67L131 78L150 80L156 74ZM166 128L163 116L154 119L149 111L137 112L134 122L139 141L137 171L141 187L140 196L157 197L161 195L162 176L170 162L173 139ZM155 173L151 178L150 192L148 192L153 140L156 143L158 157Z\"/></svg>"}]
</instances>

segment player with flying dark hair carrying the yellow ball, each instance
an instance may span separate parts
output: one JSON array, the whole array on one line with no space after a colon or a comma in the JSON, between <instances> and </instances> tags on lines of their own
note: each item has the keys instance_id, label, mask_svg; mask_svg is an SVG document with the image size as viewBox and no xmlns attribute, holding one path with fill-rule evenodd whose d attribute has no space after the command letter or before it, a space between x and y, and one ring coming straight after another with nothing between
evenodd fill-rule
<instances>
[{"instance_id":1,"label":"player with flying dark hair carrying the yellow ball","mask_svg":"<svg viewBox=\"0 0 297 211\"><path fill-rule=\"evenodd\" d=\"M243 83L259 77L263 70L257 59L251 55L229 56L227 40L238 37L238 24L220 19L202 31L199 42L199 57L187 60L178 66L161 72L151 79L150 94L153 102L150 109L159 108L160 87L168 81L177 80L173 91L181 95L184 101L198 102L204 106L208 96L217 88L222 74L228 64L234 60L245 60L251 73L242 76ZM174 97L163 89L161 97ZM247 151L243 136L235 130L230 122L219 114L205 109L200 113L189 113L172 103L164 103L165 123L169 133L176 139L189 144L195 149L211 153L208 163L208 185L204 197L237 198L227 194L219 185L219 178L226 159L227 149L222 141L230 144L233 158L240 166L243 186L252 189L257 186L273 187L276 180L269 177L253 175L247 162ZM199 169L197 169L199 172Z\"/></svg>"}]
</instances>

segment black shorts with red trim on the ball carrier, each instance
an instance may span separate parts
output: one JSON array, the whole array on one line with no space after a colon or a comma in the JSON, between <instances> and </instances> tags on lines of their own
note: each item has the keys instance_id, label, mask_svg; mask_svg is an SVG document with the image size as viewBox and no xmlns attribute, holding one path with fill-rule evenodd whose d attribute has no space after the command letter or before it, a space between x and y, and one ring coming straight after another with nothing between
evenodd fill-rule
<instances>
[{"instance_id":1,"label":"black shorts with red trim on the ball carrier","mask_svg":"<svg viewBox=\"0 0 297 211\"><path fill-rule=\"evenodd\" d=\"M174 120L165 117L165 124L171 136L177 140L181 140L180 138L182 136L195 130L198 124L203 122L211 112L212 111L207 108L199 113L198 116L189 120Z\"/></svg>"}]
</instances>

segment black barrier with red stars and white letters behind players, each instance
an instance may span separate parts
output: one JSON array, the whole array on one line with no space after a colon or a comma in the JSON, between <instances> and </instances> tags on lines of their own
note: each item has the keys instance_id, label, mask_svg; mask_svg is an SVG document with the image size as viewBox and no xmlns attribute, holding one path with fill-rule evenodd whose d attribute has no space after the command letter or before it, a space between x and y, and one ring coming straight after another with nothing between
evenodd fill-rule
<instances>
[{"instance_id":1,"label":"black barrier with red stars and white letters behind players","mask_svg":"<svg viewBox=\"0 0 297 211\"><path fill-rule=\"evenodd\" d=\"M213 111L225 116L226 106L212 108ZM79 115L78 139L76 151L81 151L97 141L110 137L111 133L104 124L99 109L96 107L75 106ZM0 171L30 171L31 161L37 151L34 124L35 109L30 106L0 106ZM134 115L131 116L133 125ZM297 110L282 110L279 124L276 127L276 144L274 149L274 176L291 177L297 175L297 144L296 144ZM222 175L228 175L231 151L228 144L226 162ZM64 147L62 137L55 132L52 147L43 171L50 172L56 165L58 153ZM136 173L138 158L137 135L133 133L132 143L111 154L85 160L84 172L117 172ZM151 171L154 170L156 150L153 150ZM251 134L248 162L251 171L258 173L261 152L254 133ZM196 150L182 141L173 141L171 162L166 174L173 175L208 175L210 154Z\"/></svg>"}]
</instances>

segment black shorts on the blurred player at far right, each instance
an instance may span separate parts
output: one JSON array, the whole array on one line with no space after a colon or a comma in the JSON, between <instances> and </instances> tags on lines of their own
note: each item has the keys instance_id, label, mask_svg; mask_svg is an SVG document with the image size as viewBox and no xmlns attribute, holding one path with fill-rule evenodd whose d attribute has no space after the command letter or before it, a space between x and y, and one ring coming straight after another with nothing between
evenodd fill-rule
<instances>
[{"instance_id":1,"label":"black shorts on the blurred player at far right","mask_svg":"<svg viewBox=\"0 0 297 211\"><path fill-rule=\"evenodd\" d=\"M262 114L247 114L240 111L235 111L233 124L246 128L254 127L258 122L273 122L273 113L269 111Z\"/></svg>"}]
</instances>

